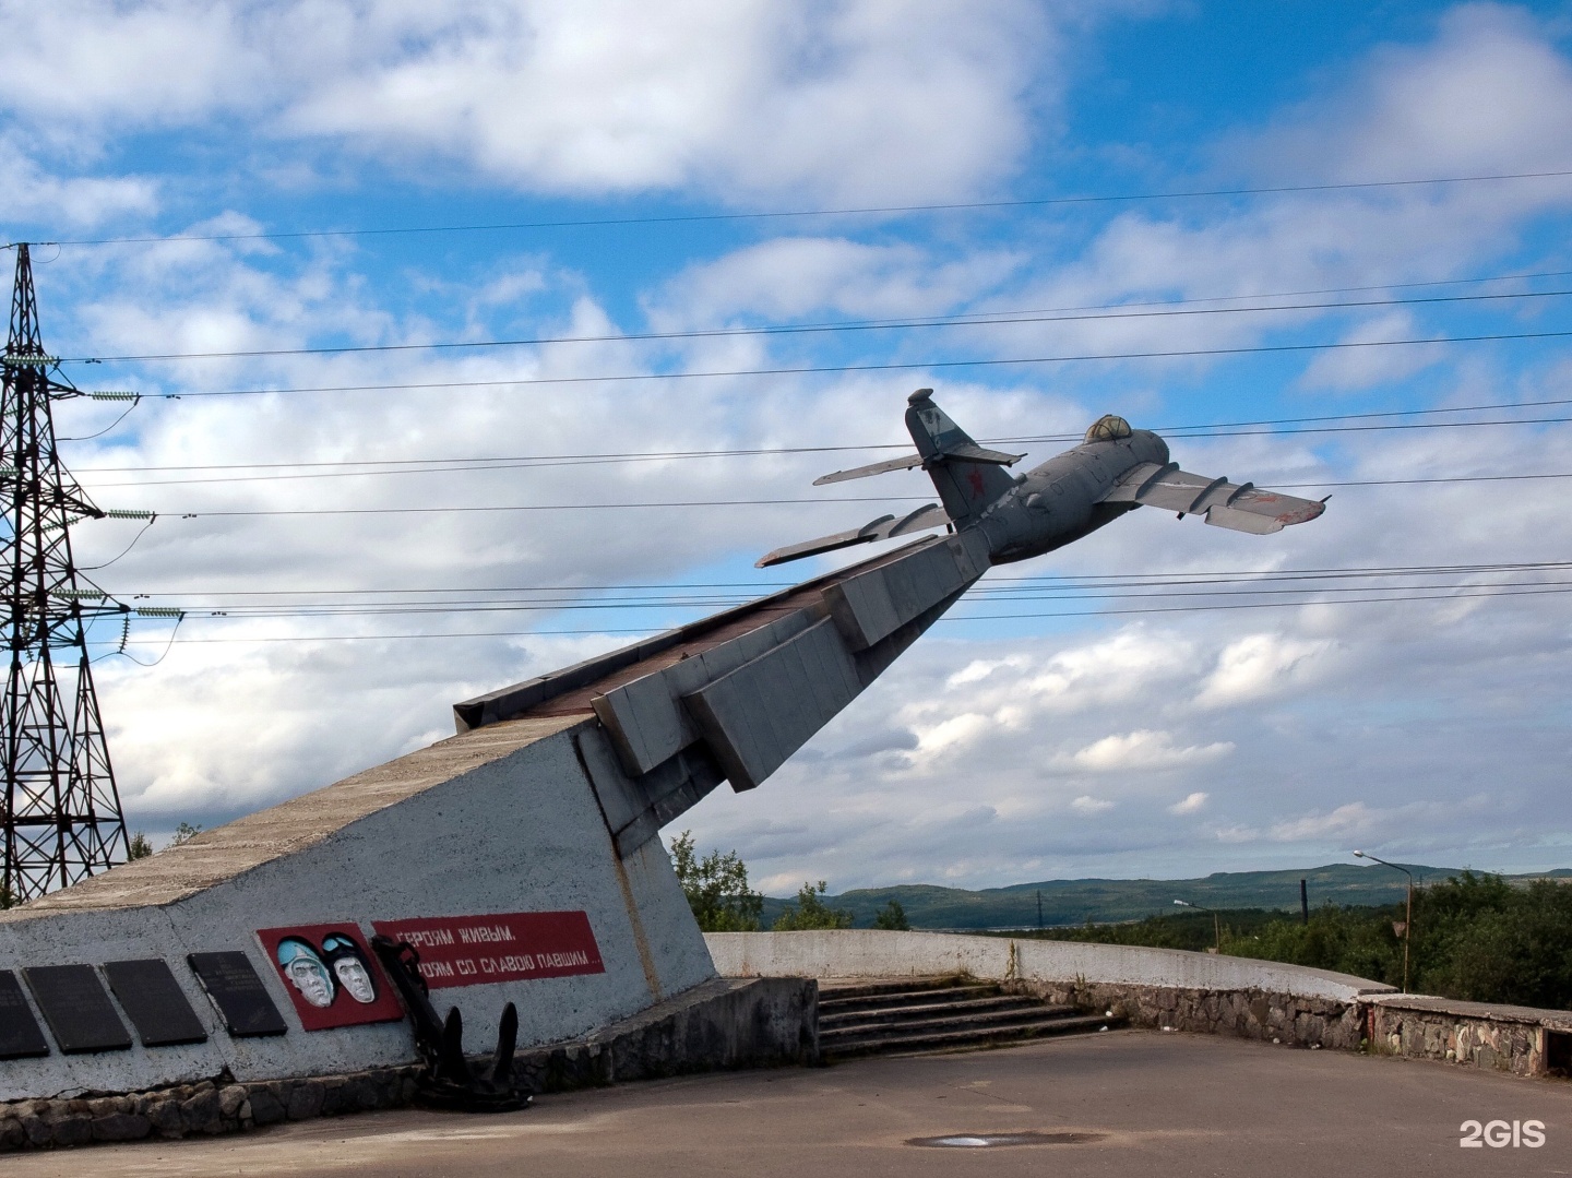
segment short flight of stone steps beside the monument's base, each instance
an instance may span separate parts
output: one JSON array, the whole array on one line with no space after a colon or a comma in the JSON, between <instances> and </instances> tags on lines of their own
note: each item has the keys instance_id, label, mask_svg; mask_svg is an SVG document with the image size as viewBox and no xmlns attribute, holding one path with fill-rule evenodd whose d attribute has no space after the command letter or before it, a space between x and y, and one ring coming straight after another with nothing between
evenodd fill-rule
<instances>
[{"instance_id":1,"label":"short flight of stone steps beside the monument's base","mask_svg":"<svg viewBox=\"0 0 1572 1178\"><path fill-rule=\"evenodd\" d=\"M964 978L821 981L819 1052L825 1063L858 1055L998 1047L1047 1035L1124 1025Z\"/></svg>"}]
</instances>

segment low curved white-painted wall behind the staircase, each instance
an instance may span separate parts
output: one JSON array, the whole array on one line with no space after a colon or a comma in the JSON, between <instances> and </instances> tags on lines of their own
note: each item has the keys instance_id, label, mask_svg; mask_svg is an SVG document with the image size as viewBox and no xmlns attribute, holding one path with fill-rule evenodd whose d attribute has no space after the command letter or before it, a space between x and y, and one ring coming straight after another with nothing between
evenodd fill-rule
<instances>
[{"instance_id":1,"label":"low curved white-painted wall behind the staircase","mask_svg":"<svg viewBox=\"0 0 1572 1178\"><path fill-rule=\"evenodd\" d=\"M978 978L1089 981L1179 989L1262 989L1349 1002L1391 986L1276 961L1177 948L1088 945L960 933L706 933L722 977L899 978L970 974Z\"/></svg>"}]
</instances>

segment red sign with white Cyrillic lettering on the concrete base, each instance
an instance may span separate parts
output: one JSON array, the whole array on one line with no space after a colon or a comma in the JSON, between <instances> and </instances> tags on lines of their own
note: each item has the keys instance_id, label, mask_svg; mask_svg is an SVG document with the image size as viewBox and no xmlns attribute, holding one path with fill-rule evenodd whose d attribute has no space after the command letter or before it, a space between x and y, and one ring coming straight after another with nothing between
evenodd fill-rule
<instances>
[{"instance_id":1,"label":"red sign with white Cyrillic lettering on the concrete base","mask_svg":"<svg viewBox=\"0 0 1572 1178\"><path fill-rule=\"evenodd\" d=\"M605 974L586 912L376 920L373 928L413 945L420 974L434 989Z\"/></svg>"}]
</instances>

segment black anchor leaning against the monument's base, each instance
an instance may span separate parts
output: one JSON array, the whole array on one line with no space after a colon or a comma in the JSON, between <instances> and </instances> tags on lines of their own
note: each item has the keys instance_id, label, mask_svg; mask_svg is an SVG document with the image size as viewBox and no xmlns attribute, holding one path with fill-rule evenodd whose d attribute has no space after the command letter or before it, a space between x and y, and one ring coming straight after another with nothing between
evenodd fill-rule
<instances>
[{"instance_id":1,"label":"black anchor leaning against the monument's base","mask_svg":"<svg viewBox=\"0 0 1572 1178\"><path fill-rule=\"evenodd\" d=\"M407 941L376 936L371 948L398 986L410 1022L415 1024L415 1046L426 1063L420 1076L420 1103L454 1112L514 1112L528 1107L530 1095L512 1084L519 1010L511 1002L503 1007L490 1066L473 1065L464 1055L464 1016L453 1007L446 1019L437 1018L415 947Z\"/></svg>"}]
</instances>

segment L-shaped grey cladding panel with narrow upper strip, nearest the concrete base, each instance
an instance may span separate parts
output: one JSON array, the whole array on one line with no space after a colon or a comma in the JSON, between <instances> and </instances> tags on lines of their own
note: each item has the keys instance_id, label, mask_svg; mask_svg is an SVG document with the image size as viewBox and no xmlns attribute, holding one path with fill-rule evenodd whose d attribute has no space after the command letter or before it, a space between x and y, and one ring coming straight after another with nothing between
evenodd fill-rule
<instances>
[{"instance_id":1,"label":"L-shaped grey cladding panel with narrow upper strip, nearest the concrete base","mask_svg":"<svg viewBox=\"0 0 1572 1178\"><path fill-rule=\"evenodd\" d=\"M703 654L597 695L593 700L596 716L607 727L623 769L630 777L648 774L693 744L700 733L678 698L800 634L811 621L806 610L788 613Z\"/></svg>"}]
</instances>

